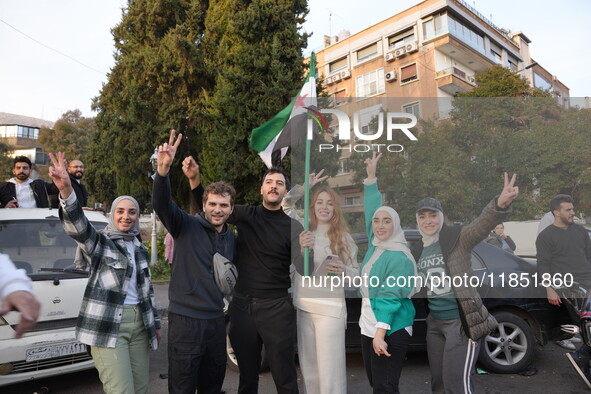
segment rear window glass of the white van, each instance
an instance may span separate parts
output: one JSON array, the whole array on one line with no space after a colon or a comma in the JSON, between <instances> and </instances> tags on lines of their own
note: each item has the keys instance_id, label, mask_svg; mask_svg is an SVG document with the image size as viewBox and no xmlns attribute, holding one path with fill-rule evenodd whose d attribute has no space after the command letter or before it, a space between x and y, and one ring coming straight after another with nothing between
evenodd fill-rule
<instances>
[{"instance_id":1,"label":"rear window glass of the white van","mask_svg":"<svg viewBox=\"0 0 591 394\"><path fill-rule=\"evenodd\" d=\"M105 223L93 223L98 230ZM35 279L47 270L74 268L76 242L59 220L0 222L0 252L10 256L17 268Z\"/></svg>"}]
</instances>

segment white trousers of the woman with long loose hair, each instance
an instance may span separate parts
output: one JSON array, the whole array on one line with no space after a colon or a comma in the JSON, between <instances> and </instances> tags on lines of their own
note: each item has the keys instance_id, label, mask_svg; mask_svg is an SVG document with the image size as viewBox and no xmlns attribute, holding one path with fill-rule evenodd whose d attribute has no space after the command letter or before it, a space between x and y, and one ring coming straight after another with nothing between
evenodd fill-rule
<instances>
[{"instance_id":1,"label":"white trousers of the woman with long loose hair","mask_svg":"<svg viewBox=\"0 0 591 394\"><path fill-rule=\"evenodd\" d=\"M298 359L306 394L345 394L345 327L338 318L298 309Z\"/></svg>"}]
</instances>

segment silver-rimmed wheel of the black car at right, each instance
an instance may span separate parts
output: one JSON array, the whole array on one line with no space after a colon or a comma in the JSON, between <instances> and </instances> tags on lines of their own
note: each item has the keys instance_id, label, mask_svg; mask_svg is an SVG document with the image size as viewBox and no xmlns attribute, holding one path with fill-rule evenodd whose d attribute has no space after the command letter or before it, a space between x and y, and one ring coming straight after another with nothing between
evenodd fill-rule
<instances>
[{"instance_id":1,"label":"silver-rimmed wheel of the black car at right","mask_svg":"<svg viewBox=\"0 0 591 394\"><path fill-rule=\"evenodd\" d=\"M527 368L535 355L532 328L521 317L510 312L493 314L499 323L481 343L478 360L495 373L518 373Z\"/></svg>"}]
</instances>

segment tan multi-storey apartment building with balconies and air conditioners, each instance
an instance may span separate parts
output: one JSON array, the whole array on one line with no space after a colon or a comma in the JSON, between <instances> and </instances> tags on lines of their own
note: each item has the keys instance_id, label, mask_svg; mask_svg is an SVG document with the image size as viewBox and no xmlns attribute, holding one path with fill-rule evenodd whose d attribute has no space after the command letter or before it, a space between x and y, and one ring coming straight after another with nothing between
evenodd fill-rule
<instances>
[{"instance_id":1,"label":"tan multi-storey apartment building with balconies and air conditioners","mask_svg":"<svg viewBox=\"0 0 591 394\"><path fill-rule=\"evenodd\" d=\"M453 97L473 89L475 75L495 64L550 89L568 106L569 88L532 58L530 43L523 32L496 26L463 0L426 0L353 35L325 36L316 62L330 105L358 112L359 128L372 133L370 121L386 101L388 111L447 117ZM362 212L348 156L344 151L330 183L340 189L346 211Z\"/></svg>"}]
</instances>

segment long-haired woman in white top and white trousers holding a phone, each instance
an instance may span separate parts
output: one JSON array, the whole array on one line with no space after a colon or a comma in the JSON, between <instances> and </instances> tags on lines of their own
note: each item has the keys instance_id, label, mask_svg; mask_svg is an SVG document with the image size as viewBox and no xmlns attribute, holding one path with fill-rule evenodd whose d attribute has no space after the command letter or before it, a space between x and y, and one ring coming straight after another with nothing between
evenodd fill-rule
<instances>
[{"instance_id":1,"label":"long-haired woman in white top and white trousers holding a phone","mask_svg":"<svg viewBox=\"0 0 591 394\"><path fill-rule=\"evenodd\" d=\"M359 266L357 246L349 234L339 196L330 187L320 188L311 199L310 230L315 236L314 267L319 268L329 255L337 257L327 264L326 272L315 271L313 281L296 273L300 368L307 394L346 393L345 292L342 286L331 289L331 277L325 275L338 275L342 283L345 276L359 275ZM324 278L327 286L318 286Z\"/></svg>"}]
</instances>

